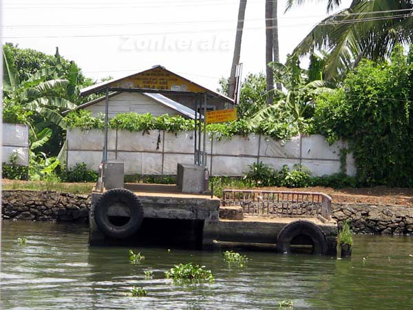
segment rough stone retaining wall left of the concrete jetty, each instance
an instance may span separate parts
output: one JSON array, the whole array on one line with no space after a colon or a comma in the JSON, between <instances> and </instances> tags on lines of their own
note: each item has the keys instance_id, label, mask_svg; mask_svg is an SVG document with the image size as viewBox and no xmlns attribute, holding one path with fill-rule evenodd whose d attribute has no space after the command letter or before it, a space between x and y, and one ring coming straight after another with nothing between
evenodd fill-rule
<instances>
[{"instance_id":1,"label":"rough stone retaining wall left of the concrete jetty","mask_svg":"<svg viewBox=\"0 0 413 310\"><path fill-rule=\"evenodd\" d=\"M2 216L12 220L60 220L87 222L90 195L61 192L3 190Z\"/></svg>"}]
</instances>

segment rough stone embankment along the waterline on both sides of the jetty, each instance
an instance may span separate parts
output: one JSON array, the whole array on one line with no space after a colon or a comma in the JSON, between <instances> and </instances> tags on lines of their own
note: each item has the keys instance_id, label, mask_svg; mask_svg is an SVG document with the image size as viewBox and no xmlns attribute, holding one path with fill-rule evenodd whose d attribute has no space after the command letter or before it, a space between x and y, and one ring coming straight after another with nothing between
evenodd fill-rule
<instances>
[{"instance_id":1,"label":"rough stone embankment along the waterline on both sides of the jetty","mask_svg":"<svg viewBox=\"0 0 413 310\"><path fill-rule=\"evenodd\" d=\"M87 221L90 195L60 192L5 190L2 215L15 220ZM413 234L413 207L333 203L332 217L339 224L352 222L356 234Z\"/></svg>"}]
</instances>

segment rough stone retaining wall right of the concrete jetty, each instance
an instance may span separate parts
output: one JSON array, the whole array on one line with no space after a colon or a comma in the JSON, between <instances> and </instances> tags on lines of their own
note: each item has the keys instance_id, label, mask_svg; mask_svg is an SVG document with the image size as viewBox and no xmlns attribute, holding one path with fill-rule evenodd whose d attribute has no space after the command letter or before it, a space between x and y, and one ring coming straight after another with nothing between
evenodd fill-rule
<instances>
[{"instance_id":1,"label":"rough stone retaining wall right of the concrete jetty","mask_svg":"<svg viewBox=\"0 0 413 310\"><path fill-rule=\"evenodd\" d=\"M339 225L350 220L355 234L413 234L413 207L333 203L332 213Z\"/></svg>"}]
</instances>

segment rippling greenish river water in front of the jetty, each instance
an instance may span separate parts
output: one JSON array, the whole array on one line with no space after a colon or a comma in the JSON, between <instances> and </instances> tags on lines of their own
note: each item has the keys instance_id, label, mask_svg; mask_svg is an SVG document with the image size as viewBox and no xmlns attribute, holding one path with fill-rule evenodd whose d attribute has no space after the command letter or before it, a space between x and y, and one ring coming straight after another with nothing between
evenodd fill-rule
<instances>
[{"instance_id":1,"label":"rippling greenish river water in front of the jetty","mask_svg":"<svg viewBox=\"0 0 413 310\"><path fill-rule=\"evenodd\" d=\"M1 309L413 309L412 237L354 236L351 260L243 251L243 268L219 252L148 247L131 265L128 248L89 249L78 225L3 221L1 237ZM215 282L165 279L180 262L207 266ZM127 296L132 286L147 297Z\"/></svg>"}]
</instances>

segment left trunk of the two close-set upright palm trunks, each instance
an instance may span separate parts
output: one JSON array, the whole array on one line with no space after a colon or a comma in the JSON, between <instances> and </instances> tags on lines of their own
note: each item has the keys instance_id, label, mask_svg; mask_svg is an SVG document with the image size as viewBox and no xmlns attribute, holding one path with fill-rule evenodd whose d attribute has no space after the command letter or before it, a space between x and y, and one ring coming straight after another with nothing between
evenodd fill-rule
<instances>
[{"instance_id":1,"label":"left trunk of the two close-set upright palm trunks","mask_svg":"<svg viewBox=\"0 0 413 310\"><path fill-rule=\"evenodd\" d=\"M273 61L273 0L266 0L265 1L265 37L266 37L266 45L265 45L265 68L266 68L266 90L269 92L274 88L274 81L273 81L273 69L268 67L268 63ZM268 94L267 96L267 105L271 105L273 103L273 95Z\"/></svg>"}]
</instances>

